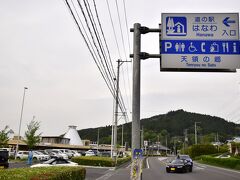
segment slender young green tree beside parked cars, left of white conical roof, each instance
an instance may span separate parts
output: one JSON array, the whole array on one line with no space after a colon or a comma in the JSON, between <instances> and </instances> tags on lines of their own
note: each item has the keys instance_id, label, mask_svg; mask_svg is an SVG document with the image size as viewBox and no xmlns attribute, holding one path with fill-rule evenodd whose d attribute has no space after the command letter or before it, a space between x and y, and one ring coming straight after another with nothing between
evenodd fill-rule
<instances>
[{"instance_id":1,"label":"slender young green tree beside parked cars, left of white conical roof","mask_svg":"<svg viewBox=\"0 0 240 180\"><path fill-rule=\"evenodd\" d=\"M36 135L36 132L40 128L40 122L32 120L27 125L27 131L25 132L26 140L24 142L27 144L29 149L33 149L38 143L40 143L40 134Z\"/></svg>"}]
</instances>

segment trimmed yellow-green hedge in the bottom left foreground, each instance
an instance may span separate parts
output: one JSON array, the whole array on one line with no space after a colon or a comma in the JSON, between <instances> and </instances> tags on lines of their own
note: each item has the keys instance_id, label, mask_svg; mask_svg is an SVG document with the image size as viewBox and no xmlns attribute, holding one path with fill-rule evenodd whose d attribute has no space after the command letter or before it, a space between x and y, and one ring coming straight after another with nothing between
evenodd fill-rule
<instances>
[{"instance_id":1,"label":"trimmed yellow-green hedge in the bottom left foreground","mask_svg":"<svg viewBox=\"0 0 240 180\"><path fill-rule=\"evenodd\" d=\"M82 167L39 167L0 170L1 180L83 180L86 169Z\"/></svg>"}]
</instances>

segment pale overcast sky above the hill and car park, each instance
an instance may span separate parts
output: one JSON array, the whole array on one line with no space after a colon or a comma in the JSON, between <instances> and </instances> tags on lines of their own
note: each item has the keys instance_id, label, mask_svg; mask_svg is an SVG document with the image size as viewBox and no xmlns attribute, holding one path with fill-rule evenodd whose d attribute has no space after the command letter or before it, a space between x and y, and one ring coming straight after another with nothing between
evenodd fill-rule
<instances>
[{"instance_id":1,"label":"pale overcast sky above the hill and car park","mask_svg":"<svg viewBox=\"0 0 240 180\"><path fill-rule=\"evenodd\" d=\"M106 0L95 0L116 70L119 57ZM89 0L89 2L92 2ZM129 0L127 23L157 28L161 13L239 12L239 0ZM127 56L123 0L118 0ZM115 1L109 0L120 55ZM129 33L130 49L132 34ZM159 53L158 35L142 37L142 51ZM124 59L125 60L125 59ZM142 61L141 118L184 109L240 122L240 74L160 72L158 59ZM131 112L131 63L121 66L120 88ZM35 116L44 135L110 125L113 97L63 0L0 0L0 129L18 132L24 87L28 87L21 134ZM131 114L129 113L130 120ZM120 123L124 122L120 120Z\"/></svg>"}]
</instances>

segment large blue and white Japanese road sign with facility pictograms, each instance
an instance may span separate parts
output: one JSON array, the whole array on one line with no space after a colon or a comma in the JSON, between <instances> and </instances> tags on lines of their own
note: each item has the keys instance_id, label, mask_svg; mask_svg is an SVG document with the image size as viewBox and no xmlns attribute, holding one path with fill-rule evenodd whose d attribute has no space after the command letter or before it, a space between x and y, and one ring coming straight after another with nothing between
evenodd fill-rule
<instances>
[{"instance_id":1,"label":"large blue and white Japanese road sign with facility pictograms","mask_svg":"<svg viewBox=\"0 0 240 180\"><path fill-rule=\"evenodd\" d=\"M239 14L162 14L161 70L240 68Z\"/></svg>"}]
</instances>

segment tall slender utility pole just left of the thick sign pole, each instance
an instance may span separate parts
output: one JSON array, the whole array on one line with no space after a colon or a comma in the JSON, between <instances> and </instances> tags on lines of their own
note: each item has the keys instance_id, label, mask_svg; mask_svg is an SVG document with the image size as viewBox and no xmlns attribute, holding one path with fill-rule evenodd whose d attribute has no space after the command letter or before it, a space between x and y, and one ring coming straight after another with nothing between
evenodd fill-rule
<instances>
[{"instance_id":1,"label":"tall slender utility pole just left of the thick sign pole","mask_svg":"<svg viewBox=\"0 0 240 180\"><path fill-rule=\"evenodd\" d=\"M114 120L114 157L117 159L117 123L118 123L118 96L119 96L119 68L120 68L120 59L117 61L117 87L116 87L116 104L115 104L115 120Z\"/></svg>"}]
</instances>

